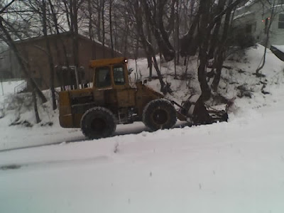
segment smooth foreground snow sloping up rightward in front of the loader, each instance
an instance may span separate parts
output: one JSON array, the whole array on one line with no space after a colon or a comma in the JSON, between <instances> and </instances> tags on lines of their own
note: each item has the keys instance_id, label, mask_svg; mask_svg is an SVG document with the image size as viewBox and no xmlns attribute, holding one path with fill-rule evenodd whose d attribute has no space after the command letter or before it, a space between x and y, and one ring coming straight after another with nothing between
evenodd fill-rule
<instances>
[{"instance_id":1,"label":"smooth foreground snow sloping up rightward in front of the loader","mask_svg":"<svg viewBox=\"0 0 284 213\"><path fill-rule=\"evenodd\" d=\"M283 95L229 123L1 153L22 166L0 170L1 212L283 212Z\"/></svg>"}]
</instances>

